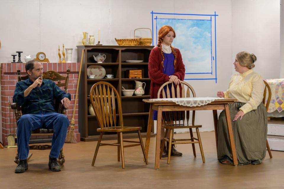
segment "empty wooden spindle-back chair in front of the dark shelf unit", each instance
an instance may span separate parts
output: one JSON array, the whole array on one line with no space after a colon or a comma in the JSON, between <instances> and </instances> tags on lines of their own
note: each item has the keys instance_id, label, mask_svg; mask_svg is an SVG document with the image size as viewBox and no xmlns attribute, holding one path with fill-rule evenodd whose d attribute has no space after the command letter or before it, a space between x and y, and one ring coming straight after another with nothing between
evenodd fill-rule
<instances>
[{"instance_id":1,"label":"empty wooden spindle-back chair in front of the dark shelf unit","mask_svg":"<svg viewBox=\"0 0 284 189\"><path fill-rule=\"evenodd\" d=\"M123 118L122 118L122 108L121 108L121 100L117 90L107 82L98 82L94 84L90 90L90 101L93 106L93 109L96 114L96 119L99 123L100 128L97 129L100 132L99 141L96 146L95 154L93 157L92 166L94 166L96 156L99 151L100 146L110 145L110 146L117 146L117 161L120 161L120 154L121 154L121 161L122 161L122 168L124 169L124 150L123 148L132 147L132 146L141 146L143 156L145 159L146 164L148 164L148 160L146 157L141 132L141 127L125 127L123 125ZM117 101L117 107L116 107ZM117 114L119 120L117 120ZM137 131L139 142L138 141L129 141L123 140L122 133L126 131ZM104 143L101 142L102 136L104 132L116 132L117 133L117 142L115 143ZM123 145L123 142L130 142L130 143L138 143L138 144L130 144L130 145Z\"/></svg>"}]
</instances>

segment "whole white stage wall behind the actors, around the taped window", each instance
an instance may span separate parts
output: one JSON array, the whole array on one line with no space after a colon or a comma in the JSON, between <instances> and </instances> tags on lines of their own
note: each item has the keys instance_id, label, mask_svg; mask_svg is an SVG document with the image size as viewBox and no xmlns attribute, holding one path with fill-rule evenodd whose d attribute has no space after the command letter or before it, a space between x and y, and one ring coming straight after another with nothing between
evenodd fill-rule
<instances>
[{"instance_id":1,"label":"whole white stage wall behind the actors, around the taped window","mask_svg":"<svg viewBox=\"0 0 284 189\"><path fill-rule=\"evenodd\" d=\"M256 71L264 78L279 78L279 9L278 0L0 0L0 62L10 62L10 55L17 50L32 57L43 51L51 62L57 62L62 43L73 48L75 62L76 45L82 44L84 31L95 35L97 42L101 28L101 43L115 45L114 38L132 38L135 28L152 28L152 10L188 14L216 11L217 84L213 80L188 80L197 96L216 96L216 91L227 89L233 59L241 50L256 54ZM212 111L197 112L196 123L203 125L201 131L212 131Z\"/></svg>"}]
</instances>

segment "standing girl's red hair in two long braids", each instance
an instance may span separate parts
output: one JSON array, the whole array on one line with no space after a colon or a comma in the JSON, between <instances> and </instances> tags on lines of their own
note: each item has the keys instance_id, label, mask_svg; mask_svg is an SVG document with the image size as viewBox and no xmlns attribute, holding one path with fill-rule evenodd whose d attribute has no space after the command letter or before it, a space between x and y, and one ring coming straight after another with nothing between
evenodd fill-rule
<instances>
[{"instance_id":1,"label":"standing girl's red hair in two long braids","mask_svg":"<svg viewBox=\"0 0 284 189\"><path fill-rule=\"evenodd\" d=\"M157 46L159 47L159 49L160 49L160 52L161 52L161 55L162 55L162 58L163 58L163 60L162 60L162 63L161 63L161 65L162 65L162 67L164 68L164 59L165 59L165 57L164 57L164 53L163 53L163 51L162 51L162 42L163 42L163 38L170 32L170 31L172 31L172 32L174 32L174 38L175 38L175 30L171 27L171 26L167 26L167 25L164 25L164 26L162 26L161 28L160 28L160 30L159 30L159 32L158 32L158 44L157 44ZM174 54L174 56L175 56L175 60L174 60L174 66L175 66L175 64L176 64L176 61L177 61L177 54L175 53L175 50L174 50L174 47L171 45L171 49L172 49L172 53Z\"/></svg>"}]
</instances>

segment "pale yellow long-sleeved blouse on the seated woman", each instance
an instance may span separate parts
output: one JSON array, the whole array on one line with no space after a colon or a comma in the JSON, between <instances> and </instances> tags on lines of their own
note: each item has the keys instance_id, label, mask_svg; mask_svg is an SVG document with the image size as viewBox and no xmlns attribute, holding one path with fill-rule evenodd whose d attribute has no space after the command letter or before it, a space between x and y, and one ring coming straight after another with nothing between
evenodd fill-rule
<instances>
[{"instance_id":1,"label":"pale yellow long-sleeved blouse on the seated woman","mask_svg":"<svg viewBox=\"0 0 284 189\"><path fill-rule=\"evenodd\" d=\"M265 84L262 76L252 69L242 74L231 76L229 88L224 92L225 98L235 98L237 102L246 103L240 110L248 113L256 110L263 98Z\"/></svg>"}]
</instances>

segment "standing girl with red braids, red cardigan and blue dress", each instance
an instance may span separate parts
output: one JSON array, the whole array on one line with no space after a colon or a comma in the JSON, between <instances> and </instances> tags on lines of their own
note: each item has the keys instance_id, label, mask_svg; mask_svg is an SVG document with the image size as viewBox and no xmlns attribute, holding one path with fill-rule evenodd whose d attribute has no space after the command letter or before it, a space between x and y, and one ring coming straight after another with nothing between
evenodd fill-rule
<instances>
[{"instance_id":1,"label":"standing girl with red braids, red cardigan and blue dress","mask_svg":"<svg viewBox=\"0 0 284 189\"><path fill-rule=\"evenodd\" d=\"M149 77L151 79L151 98L157 97L159 88L165 82L173 82L175 85L184 80L185 68L180 50L171 44L175 38L175 30L171 26L162 26L158 32L158 44L151 50L149 56ZM157 111L154 110L153 120L157 120ZM161 139L164 138L164 128L161 130ZM168 133L169 134L169 133ZM169 136L167 136L169 137ZM161 140L162 144L162 140ZM166 145L168 146L168 145ZM172 146L171 155L181 156ZM167 149L164 147L162 157L167 156Z\"/></svg>"}]
</instances>

